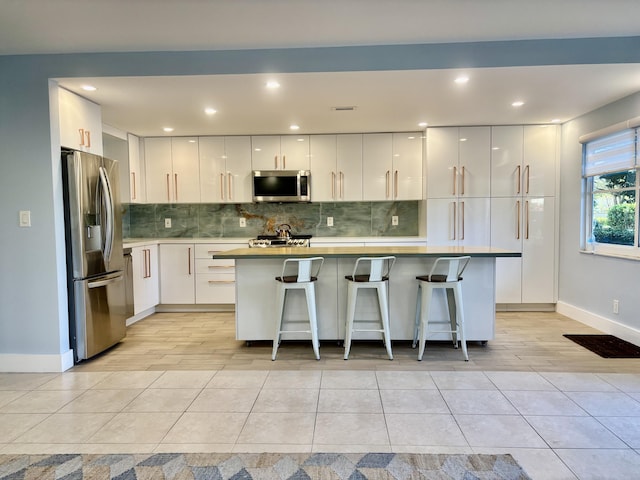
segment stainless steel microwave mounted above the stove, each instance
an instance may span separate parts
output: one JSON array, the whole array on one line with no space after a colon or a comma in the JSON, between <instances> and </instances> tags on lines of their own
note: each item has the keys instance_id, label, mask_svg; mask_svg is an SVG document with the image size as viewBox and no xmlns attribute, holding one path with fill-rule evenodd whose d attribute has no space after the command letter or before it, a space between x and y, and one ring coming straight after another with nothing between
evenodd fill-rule
<instances>
[{"instance_id":1,"label":"stainless steel microwave mounted above the stove","mask_svg":"<svg viewBox=\"0 0 640 480\"><path fill-rule=\"evenodd\" d=\"M254 170L254 202L310 202L308 170Z\"/></svg>"}]
</instances>

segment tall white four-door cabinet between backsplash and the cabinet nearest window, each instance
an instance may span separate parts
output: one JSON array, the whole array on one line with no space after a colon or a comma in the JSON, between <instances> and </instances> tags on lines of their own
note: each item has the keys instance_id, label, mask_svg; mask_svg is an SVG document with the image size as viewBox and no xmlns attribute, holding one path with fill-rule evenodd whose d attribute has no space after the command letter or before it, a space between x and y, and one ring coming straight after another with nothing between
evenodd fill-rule
<instances>
[{"instance_id":1,"label":"tall white four-door cabinet between backsplash and the cabinet nearest window","mask_svg":"<svg viewBox=\"0 0 640 480\"><path fill-rule=\"evenodd\" d=\"M490 152L490 127L427 131L428 243L490 244Z\"/></svg>"}]
</instances>

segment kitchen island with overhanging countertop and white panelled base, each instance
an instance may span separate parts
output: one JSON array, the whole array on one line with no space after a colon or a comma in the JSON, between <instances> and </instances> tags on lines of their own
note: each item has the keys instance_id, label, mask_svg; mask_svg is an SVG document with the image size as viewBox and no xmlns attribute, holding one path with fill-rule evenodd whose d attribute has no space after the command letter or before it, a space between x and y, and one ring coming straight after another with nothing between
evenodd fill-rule
<instances>
[{"instance_id":1,"label":"kitchen island with overhanging countertop and white panelled base","mask_svg":"<svg viewBox=\"0 0 640 480\"><path fill-rule=\"evenodd\" d=\"M215 258L234 259L236 264L236 339L257 341L273 338L277 312L274 279L282 271L283 260L315 256L325 259L316 284L319 337L321 340L344 339L347 302L344 277L352 273L356 258L384 255L397 258L389 280L392 340L413 339L418 288L415 277L428 273L437 257L463 255L472 257L464 272L463 283L467 339L486 342L494 338L495 260L498 257L519 257L520 253L490 247L353 246L240 248L217 253ZM373 291L364 291L359 295L356 319L374 321L379 318L374 296ZM446 318L444 295L434 294L431 312L439 318ZM288 294L285 318L307 318L302 292ZM289 334L283 338L306 337ZM354 339L374 338L379 338L379 334L354 335ZM441 338L444 340L448 337Z\"/></svg>"}]
</instances>

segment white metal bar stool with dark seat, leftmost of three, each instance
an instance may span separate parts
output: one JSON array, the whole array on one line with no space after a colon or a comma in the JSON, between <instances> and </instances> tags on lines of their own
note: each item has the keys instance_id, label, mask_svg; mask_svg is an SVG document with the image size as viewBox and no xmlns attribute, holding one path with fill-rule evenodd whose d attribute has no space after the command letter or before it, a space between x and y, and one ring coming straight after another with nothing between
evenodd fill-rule
<instances>
[{"instance_id":1,"label":"white metal bar stool with dark seat, leftmost of three","mask_svg":"<svg viewBox=\"0 0 640 480\"><path fill-rule=\"evenodd\" d=\"M282 273L276 277L277 285L277 302L278 316L276 318L275 336L273 338L273 352L271 360L276 359L278 346L280 345L280 336L283 333L310 333L313 352L316 360L320 360L320 345L318 342L318 319L316 313L316 290L315 282L318 280L318 274L324 263L322 257L310 258L287 258L282 263ZM284 304L289 290L304 290L307 300L307 311L309 315L308 330L283 330L283 326L287 323L301 323L304 320L284 320Z\"/></svg>"}]
</instances>

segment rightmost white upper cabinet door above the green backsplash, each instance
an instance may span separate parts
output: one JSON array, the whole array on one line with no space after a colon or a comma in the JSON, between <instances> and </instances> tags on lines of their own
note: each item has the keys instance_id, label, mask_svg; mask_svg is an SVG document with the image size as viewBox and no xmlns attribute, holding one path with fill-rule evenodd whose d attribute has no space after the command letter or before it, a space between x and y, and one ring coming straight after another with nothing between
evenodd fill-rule
<instances>
[{"instance_id":1,"label":"rightmost white upper cabinet door above the green backsplash","mask_svg":"<svg viewBox=\"0 0 640 480\"><path fill-rule=\"evenodd\" d=\"M393 199L422 199L422 134L394 133L392 137Z\"/></svg>"}]
</instances>

